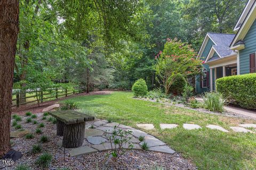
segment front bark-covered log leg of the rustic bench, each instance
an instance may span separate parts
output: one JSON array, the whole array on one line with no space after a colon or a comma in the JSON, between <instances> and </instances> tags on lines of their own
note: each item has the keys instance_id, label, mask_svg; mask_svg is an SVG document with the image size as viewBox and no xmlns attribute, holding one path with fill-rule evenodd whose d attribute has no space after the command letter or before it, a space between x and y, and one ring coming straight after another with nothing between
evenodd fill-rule
<instances>
[{"instance_id":1,"label":"front bark-covered log leg of the rustic bench","mask_svg":"<svg viewBox=\"0 0 256 170\"><path fill-rule=\"evenodd\" d=\"M84 142L85 122L65 124L63 130L62 146L65 148L77 148Z\"/></svg>"}]
</instances>

